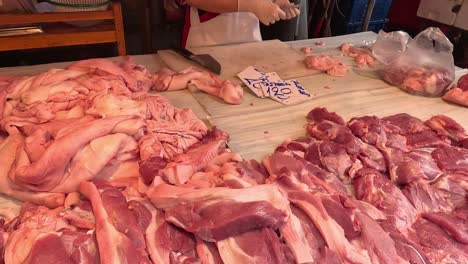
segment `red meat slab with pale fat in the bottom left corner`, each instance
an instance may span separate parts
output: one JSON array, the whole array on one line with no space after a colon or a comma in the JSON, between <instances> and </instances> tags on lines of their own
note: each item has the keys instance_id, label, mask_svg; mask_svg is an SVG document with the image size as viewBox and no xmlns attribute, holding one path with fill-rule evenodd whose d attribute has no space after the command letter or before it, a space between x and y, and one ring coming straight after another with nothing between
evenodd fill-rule
<instances>
[{"instance_id":1,"label":"red meat slab with pale fat in the bottom left corner","mask_svg":"<svg viewBox=\"0 0 468 264\"><path fill-rule=\"evenodd\" d=\"M5 263L96 263L93 234L69 225L62 209L25 203L6 242Z\"/></svg>"}]
</instances>

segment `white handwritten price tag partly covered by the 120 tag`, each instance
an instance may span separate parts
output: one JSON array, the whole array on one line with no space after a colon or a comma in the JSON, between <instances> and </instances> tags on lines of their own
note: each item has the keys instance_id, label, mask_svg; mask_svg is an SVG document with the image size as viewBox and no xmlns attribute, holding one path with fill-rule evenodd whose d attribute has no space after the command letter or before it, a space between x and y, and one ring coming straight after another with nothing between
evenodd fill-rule
<instances>
[{"instance_id":1,"label":"white handwritten price tag partly covered by the 120 tag","mask_svg":"<svg viewBox=\"0 0 468 264\"><path fill-rule=\"evenodd\" d=\"M275 72L264 73L252 66L247 67L237 76L255 93L255 95L262 98L265 97L265 95L263 94L261 84L282 82L281 78Z\"/></svg>"}]
</instances>

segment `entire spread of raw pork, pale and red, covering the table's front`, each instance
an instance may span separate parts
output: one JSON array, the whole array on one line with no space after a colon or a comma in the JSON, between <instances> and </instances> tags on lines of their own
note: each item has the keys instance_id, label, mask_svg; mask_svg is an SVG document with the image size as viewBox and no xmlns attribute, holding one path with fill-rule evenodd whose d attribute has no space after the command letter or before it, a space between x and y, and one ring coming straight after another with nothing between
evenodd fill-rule
<instances>
[{"instance_id":1,"label":"entire spread of raw pork, pale and red, covering the table's front","mask_svg":"<svg viewBox=\"0 0 468 264\"><path fill-rule=\"evenodd\" d=\"M21 201L0 203L4 263L468 263L454 120L316 108L306 137L247 161L148 93L231 85L186 74L92 60L2 79L0 192Z\"/></svg>"}]
</instances>

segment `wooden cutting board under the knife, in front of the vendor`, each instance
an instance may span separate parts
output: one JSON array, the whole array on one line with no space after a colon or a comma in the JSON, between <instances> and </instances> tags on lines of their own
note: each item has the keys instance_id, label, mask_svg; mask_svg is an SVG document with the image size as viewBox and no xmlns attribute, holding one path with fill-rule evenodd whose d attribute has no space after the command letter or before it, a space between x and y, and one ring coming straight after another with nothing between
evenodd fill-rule
<instances>
[{"instance_id":1,"label":"wooden cutting board under the knife, in front of the vendor","mask_svg":"<svg viewBox=\"0 0 468 264\"><path fill-rule=\"evenodd\" d=\"M237 79L239 72L254 66L265 72L276 72L287 80L318 74L307 69L303 60L305 55L279 40L269 40L244 44L191 48L194 54L209 54L222 66L221 77ZM170 50L158 51L158 55L171 69L183 70L189 66L199 67Z\"/></svg>"}]
</instances>

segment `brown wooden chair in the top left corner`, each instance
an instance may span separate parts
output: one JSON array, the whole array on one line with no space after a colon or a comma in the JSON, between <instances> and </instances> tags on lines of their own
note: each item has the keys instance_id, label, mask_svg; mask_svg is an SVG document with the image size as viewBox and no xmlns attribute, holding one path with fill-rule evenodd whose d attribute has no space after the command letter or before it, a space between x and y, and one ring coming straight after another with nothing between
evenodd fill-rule
<instances>
[{"instance_id":1,"label":"brown wooden chair in the top left corner","mask_svg":"<svg viewBox=\"0 0 468 264\"><path fill-rule=\"evenodd\" d=\"M91 20L106 21L92 27L60 23ZM0 27L22 24L41 24L44 33L0 37L0 51L116 43L118 55L126 55L122 7L118 2L107 11L0 14Z\"/></svg>"}]
</instances>

